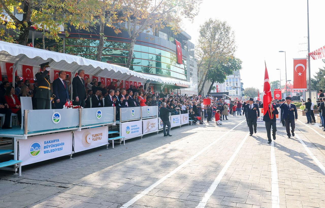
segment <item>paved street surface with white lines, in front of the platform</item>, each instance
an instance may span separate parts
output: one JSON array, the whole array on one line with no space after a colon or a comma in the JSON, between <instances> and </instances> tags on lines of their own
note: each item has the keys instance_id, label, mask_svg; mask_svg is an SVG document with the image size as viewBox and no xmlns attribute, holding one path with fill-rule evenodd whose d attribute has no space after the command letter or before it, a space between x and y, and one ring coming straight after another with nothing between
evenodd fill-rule
<instances>
[{"instance_id":1,"label":"paved street surface with white lines, in front of the platform","mask_svg":"<svg viewBox=\"0 0 325 208\"><path fill-rule=\"evenodd\" d=\"M325 134L248 136L244 116L0 171L0 207L325 207ZM300 116L305 123L305 117Z\"/></svg>"}]
</instances>

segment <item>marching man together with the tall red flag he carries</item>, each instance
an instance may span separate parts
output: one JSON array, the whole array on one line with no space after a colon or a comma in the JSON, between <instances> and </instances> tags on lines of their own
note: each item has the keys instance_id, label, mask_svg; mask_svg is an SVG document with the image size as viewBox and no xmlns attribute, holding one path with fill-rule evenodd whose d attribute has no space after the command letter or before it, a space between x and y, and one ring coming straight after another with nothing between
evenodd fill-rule
<instances>
[{"instance_id":1,"label":"marching man together with the tall red flag he carries","mask_svg":"<svg viewBox=\"0 0 325 208\"><path fill-rule=\"evenodd\" d=\"M263 121L265 121L268 144L272 142L271 127L272 127L273 140L275 140L275 133L277 131L276 114L279 114L277 107L271 104L271 102L272 102L271 86L270 86L270 80L268 79L268 73L267 73L267 68L265 63L264 88L263 88L263 112L264 112Z\"/></svg>"}]
</instances>

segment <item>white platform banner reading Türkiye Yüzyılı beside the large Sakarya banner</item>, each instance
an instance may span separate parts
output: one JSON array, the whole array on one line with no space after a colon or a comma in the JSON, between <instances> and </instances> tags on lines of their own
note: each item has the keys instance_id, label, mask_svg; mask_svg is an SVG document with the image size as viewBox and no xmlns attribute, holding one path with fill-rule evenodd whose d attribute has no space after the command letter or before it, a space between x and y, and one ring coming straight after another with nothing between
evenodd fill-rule
<instances>
[{"instance_id":1,"label":"white platform banner reading T\u00fcrkiye Y\u00fczy\u0131l\u0131 beside the large Sakarya banner","mask_svg":"<svg viewBox=\"0 0 325 208\"><path fill-rule=\"evenodd\" d=\"M73 146L74 152L81 152L108 143L107 127L87 128L81 131L74 131Z\"/></svg>"}]
</instances>

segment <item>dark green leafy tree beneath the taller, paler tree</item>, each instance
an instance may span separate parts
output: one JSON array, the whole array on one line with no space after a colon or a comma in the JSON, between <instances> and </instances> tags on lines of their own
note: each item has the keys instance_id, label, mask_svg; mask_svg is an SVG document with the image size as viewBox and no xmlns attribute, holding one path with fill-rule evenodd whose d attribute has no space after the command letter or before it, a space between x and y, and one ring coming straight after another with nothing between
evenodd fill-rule
<instances>
[{"instance_id":1,"label":"dark green leafy tree beneath the taller, paler tree","mask_svg":"<svg viewBox=\"0 0 325 208\"><path fill-rule=\"evenodd\" d=\"M242 61L233 56L227 57L223 61L215 63L207 73L208 80L211 81L208 93L213 89L214 83L224 83L227 76L241 69Z\"/></svg>"}]
</instances>

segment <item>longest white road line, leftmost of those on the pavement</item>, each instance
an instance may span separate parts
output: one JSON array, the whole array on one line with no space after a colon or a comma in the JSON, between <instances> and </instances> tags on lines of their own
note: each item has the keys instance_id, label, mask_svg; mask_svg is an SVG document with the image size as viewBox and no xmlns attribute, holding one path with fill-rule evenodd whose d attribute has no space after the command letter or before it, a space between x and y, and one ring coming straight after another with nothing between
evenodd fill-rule
<instances>
[{"instance_id":1,"label":"longest white road line, leftmost of those on the pavement","mask_svg":"<svg viewBox=\"0 0 325 208\"><path fill-rule=\"evenodd\" d=\"M132 198L130 201L126 202L125 204L123 204L121 207L129 207L130 205L132 205L134 202L138 201L141 197L143 197L144 195L148 194L149 191L151 191L152 189L154 189L156 186L158 186L159 184L161 184L164 180L166 180L167 178L171 177L173 174L175 174L177 171L179 171L182 167L184 167L185 165L187 165L189 162L191 162L193 159L195 159L196 157L198 157L200 154L202 154L205 150L207 150L208 148L210 148L212 145L214 145L216 142L218 142L220 139L222 139L224 136L226 136L230 131L232 131L233 129L235 129L236 127L238 127L242 122L246 121L246 119L244 119L243 121L241 121L239 124L237 124L234 128L228 130L226 133L224 133L221 137L219 137L218 139L214 140L212 143L210 143L208 146L204 147L200 152L196 153L195 155L193 155L192 157L190 157L187 161L185 161L184 163L182 163L181 165L179 165L178 167L176 167L174 170L172 170L170 173L168 173L167 175L165 175L164 177L162 177L161 179L159 179L157 182L155 182L154 184L152 184L151 186L149 186L147 189L143 190L141 193L137 194L134 198Z\"/></svg>"}]
</instances>

